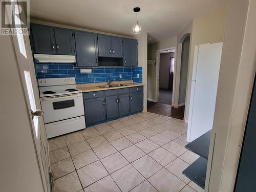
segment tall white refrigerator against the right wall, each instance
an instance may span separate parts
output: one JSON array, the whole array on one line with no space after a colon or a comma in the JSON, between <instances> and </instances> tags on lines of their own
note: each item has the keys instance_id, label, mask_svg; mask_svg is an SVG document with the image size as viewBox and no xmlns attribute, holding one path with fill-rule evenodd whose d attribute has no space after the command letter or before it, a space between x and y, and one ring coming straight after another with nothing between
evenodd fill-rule
<instances>
[{"instance_id":1,"label":"tall white refrigerator against the right wall","mask_svg":"<svg viewBox=\"0 0 256 192\"><path fill-rule=\"evenodd\" d=\"M195 47L189 102L187 142L212 129L222 42Z\"/></svg>"}]
</instances>

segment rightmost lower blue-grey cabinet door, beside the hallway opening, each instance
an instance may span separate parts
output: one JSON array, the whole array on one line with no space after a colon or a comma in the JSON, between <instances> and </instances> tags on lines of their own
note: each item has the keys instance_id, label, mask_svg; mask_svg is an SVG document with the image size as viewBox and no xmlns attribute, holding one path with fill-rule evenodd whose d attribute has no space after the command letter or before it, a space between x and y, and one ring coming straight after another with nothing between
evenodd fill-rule
<instances>
[{"instance_id":1,"label":"rightmost lower blue-grey cabinet door, beside the hallway opening","mask_svg":"<svg viewBox=\"0 0 256 192\"><path fill-rule=\"evenodd\" d=\"M135 92L130 94L131 113L143 110L143 92Z\"/></svg>"}]
</instances>

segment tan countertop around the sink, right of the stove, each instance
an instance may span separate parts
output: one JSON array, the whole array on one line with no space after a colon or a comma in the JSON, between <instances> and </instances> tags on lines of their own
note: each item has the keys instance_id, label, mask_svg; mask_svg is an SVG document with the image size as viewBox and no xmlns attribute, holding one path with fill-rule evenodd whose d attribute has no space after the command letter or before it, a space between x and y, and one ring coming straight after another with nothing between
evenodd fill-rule
<instances>
[{"instance_id":1,"label":"tan countertop around the sink, right of the stove","mask_svg":"<svg viewBox=\"0 0 256 192\"><path fill-rule=\"evenodd\" d=\"M90 83L90 84L77 84L76 88L82 90L82 92L92 92L92 91L104 91L104 90L112 90L112 89L122 89L122 88L131 88L143 86L143 83L135 83L133 81L115 81L111 82L111 84L125 84L126 86L122 87L113 87L113 88L99 88L99 86L104 86L108 84L107 82L102 83Z\"/></svg>"}]
</instances>

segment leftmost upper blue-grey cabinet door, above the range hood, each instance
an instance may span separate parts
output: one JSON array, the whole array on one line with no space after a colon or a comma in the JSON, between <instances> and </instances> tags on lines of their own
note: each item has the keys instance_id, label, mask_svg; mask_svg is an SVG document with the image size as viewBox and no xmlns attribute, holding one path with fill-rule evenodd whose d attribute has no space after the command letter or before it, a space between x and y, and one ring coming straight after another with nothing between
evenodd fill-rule
<instances>
[{"instance_id":1,"label":"leftmost upper blue-grey cabinet door, above the range hood","mask_svg":"<svg viewBox=\"0 0 256 192\"><path fill-rule=\"evenodd\" d=\"M33 51L38 54L57 54L54 29L49 26L31 24Z\"/></svg>"}]
</instances>

